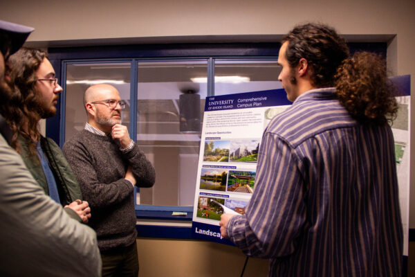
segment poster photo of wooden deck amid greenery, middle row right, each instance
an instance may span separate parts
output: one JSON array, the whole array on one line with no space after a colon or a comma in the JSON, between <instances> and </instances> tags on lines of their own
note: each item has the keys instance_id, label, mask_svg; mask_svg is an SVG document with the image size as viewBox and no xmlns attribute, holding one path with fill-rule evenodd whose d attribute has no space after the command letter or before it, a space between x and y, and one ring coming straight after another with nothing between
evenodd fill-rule
<instances>
[{"instance_id":1,"label":"poster photo of wooden deck amid greenery, middle row right","mask_svg":"<svg viewBox=\"0 0 415 277\"><path fill-rule=\"evenodd\" d=\"M229 170L226 191L234 193L253 193L256 175L257 172L255 171Z\"/></svg>"}]
</instances>

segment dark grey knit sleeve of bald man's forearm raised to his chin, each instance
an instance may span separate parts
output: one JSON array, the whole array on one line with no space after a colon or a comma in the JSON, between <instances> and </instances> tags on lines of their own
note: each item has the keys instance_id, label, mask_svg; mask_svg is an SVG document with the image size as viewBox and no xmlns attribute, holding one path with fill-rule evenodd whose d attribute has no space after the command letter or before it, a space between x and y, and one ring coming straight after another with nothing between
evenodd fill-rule
<instances>
[{"instance_id":1,"label":"dark grey knit sleeve of bald man's forearm raised to his chin","mask_svg":"<svg viewBox=\"0 0 415 277\"><path fill-rule=\"evenodd\" d=\"M138 148L137 143L134 144L131 151L124 153L124 157L127 159L129 166L131 166L134 177L136 177L136 186L149 188L154 185L156 171L147 157L145 157L144 152Z\"/></svg>"}]
</instances>

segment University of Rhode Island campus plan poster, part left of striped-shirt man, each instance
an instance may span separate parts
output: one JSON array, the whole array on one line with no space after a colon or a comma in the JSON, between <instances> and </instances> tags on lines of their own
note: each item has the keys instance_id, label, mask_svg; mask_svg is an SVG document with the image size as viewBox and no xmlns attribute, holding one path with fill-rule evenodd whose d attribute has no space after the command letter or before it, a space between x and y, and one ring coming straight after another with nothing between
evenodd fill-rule
<instances>
[{"instance_id":1,"label":"University of Rhode Island campus plan poster, part left of striped-shirt man","mask_svg":"<svg viewBox=\"0 0 415 277\"><path fill-rule=\"evenodd\" d=\"M194 197L194 238L231 244L221 238L221 215L223 211L244 213L255 190L264 129L290 105L284 89L206 98Z\"/></svg>"}]
</instances>

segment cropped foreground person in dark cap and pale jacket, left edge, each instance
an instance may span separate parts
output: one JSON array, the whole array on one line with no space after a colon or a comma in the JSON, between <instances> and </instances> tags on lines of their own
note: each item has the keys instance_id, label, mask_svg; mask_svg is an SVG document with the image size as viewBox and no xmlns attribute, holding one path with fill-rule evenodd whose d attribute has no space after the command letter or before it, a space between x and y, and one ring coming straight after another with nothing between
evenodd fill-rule
<instances>
[{"instance_id":1,"label":"cropped foreground person in dark cap and pale jacket, left edge","mask_svg":"<svg viewBox=\"0 0 415 277\"><path fill-rule=\"evenodd\" d=\"M0 114L13 113L8 57L33 28L0 20ZM9 143L13 133L0 115L0 276L100 276L95 232L45 195Z\"/></svg>"}]
</instances>

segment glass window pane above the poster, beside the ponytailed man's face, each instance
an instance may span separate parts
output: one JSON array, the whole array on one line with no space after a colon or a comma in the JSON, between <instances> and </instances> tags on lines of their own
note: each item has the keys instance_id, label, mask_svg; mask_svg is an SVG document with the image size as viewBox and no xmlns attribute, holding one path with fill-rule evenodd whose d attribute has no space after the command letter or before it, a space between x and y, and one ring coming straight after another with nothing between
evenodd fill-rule
<instances>
[{"instance_id":1,"label":"glass window pane above the poster, beside the ponytailed man's face","mask_svg":"<svg viewBox=\"0 0 415 277\"><path fill-rule=\"evenodd\" d=\"M282 89L281 66L272 61L215 60L214 95Z\"/></svg>"}]
</instances>

